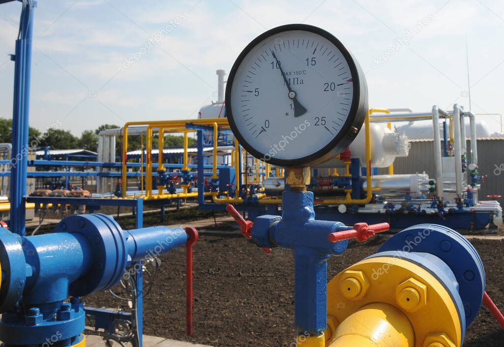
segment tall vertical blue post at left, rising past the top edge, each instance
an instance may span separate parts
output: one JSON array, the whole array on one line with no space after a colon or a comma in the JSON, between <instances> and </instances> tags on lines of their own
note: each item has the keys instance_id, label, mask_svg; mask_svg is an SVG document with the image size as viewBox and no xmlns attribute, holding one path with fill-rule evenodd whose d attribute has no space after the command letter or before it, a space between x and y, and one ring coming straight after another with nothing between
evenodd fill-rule
<instances>
[{"instance_id":1,"label":"tall vertical blue post at left, rising past the top edge","mask_svg":"<svg viewBox=\"0 0 504 347\"><path fill-rule=\"evenodd\" d=\"M25 200L27 184L28 119L30 106L30 68L33 35L33 8L30 0L23 3L16 40L14 67L14 106L12 121L11 214L10 229L26 234Z\"/></svg>"}]
</instances>

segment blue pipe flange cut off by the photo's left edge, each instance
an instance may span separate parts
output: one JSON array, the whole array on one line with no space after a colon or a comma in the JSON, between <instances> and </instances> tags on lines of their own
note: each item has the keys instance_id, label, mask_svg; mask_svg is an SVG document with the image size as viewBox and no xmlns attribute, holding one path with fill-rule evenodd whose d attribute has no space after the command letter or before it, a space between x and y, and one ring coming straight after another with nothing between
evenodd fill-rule
<instances>
[{"instance_id":1,"label":"blue pipe flange cut off by the photo's left edge","mask_svg":"<svg viewBox=\"0 0 504 347\"><path fill-rule=\"evenodd\" d=\"M0 312L6 312L18 302L26 285L25 254L18 234L0 228L0 266L2 285L0 285Z\"/></svg>"}]
</instances>

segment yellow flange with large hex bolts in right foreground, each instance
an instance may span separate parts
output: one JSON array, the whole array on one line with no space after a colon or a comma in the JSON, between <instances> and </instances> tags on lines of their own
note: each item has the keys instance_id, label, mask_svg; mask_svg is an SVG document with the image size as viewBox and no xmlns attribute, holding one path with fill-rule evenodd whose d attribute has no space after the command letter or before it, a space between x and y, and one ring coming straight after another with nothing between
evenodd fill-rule
<instances>
[{"instance_id":1,"label":"yellow flange with large hex bolts in right foreground","mask_svg":"<svg viewBox=\"0 0 504 347\"><path fill-rule=\"evenodd\" d=\"M357 300L342 294L342 284L349 284L348 281L345 282L346 279L354 277L349 276L349 273L361 273L369 281L368 289L364 295L360 293ZM346 287L347 292L349 292L348 288L352 292L350 286ZM341 336L351 334L351 332L340 331L340 328L346 327L345 320L363 306L383 303L395 307L407 317L414 331L413 345L423 346L428 336L439 335L439 332L453 341L456 347L462 344L460 318L449 293L429 272L404 259L376 257L364 259L350 266L329 282L327 301L328 315L335 317L336 322L341 322L336 329L338 332L333 329L327 330L327 332L331 330L332 333L331 338L328 338L328 343L332 343L330 341L334 340L335 334ZM359 317L362 316L359 315ZM366 323L368 318L363 318L365 318L361 322L363 325L359 329L372 330L370 332L381 334L379 326L370 325ZM355 322L355 319L353 320ZM362 332L361 335L365 333ZM354 345L366 346L365 343L355 341L354 343L356 343ZM340 344L327 345L336 347ZM402 346L402 344L399 345ZM375 344L375 346L381 346L381 344Z\"/></svg>"}]
</instances>

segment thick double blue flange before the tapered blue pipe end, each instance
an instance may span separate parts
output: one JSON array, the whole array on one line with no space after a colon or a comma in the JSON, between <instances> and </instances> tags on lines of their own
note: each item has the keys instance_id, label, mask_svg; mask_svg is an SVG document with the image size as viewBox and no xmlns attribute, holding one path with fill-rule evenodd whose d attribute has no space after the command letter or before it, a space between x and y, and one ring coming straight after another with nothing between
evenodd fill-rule
<instances>
[{"instance_id":1,"label":"thick double blue flange before the tapered blue pipe end","mask_svg":"<svg viewBox=\"0 0 504 347\"><path fill-rule=\"evenodd\" d=\"M89 242L93 268L70 285L70 295L85 296L116 284L128 262L122 229L103 214L74 215L59 222L53 232L82 234ZM106 246L105 246L106 245Z\"/></svg>"}]
</instances>

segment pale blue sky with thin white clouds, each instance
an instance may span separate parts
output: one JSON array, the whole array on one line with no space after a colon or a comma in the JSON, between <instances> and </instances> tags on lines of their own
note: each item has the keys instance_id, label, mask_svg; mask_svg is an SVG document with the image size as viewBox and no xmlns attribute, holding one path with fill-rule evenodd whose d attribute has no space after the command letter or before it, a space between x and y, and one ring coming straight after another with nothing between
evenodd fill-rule
<instances>
[{"instance_id":1,"label":"pale blue sky with thin white clouds","mask_svg":"<svg viewBox=\"0 0 504 347\"><path fill-rule=\"evenodd\" d=\"M12 118L21 3L0 5L0 117ZM430 111L459 103L500 131L504 2L491 0L39 0L30 125L80 135L104 123L197 118L255 37L321 27L365 72L369 106Z\"/></svg>"}]
</instances>

